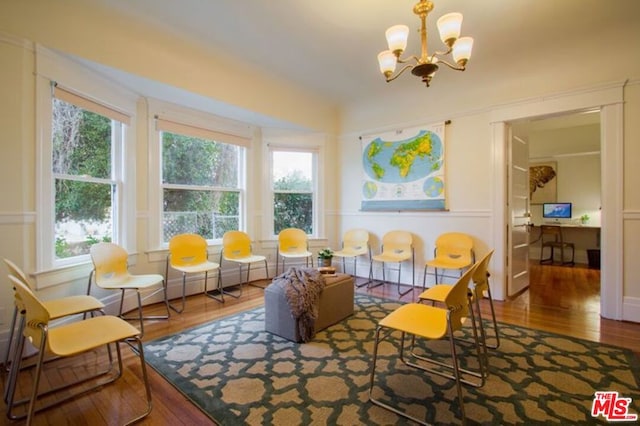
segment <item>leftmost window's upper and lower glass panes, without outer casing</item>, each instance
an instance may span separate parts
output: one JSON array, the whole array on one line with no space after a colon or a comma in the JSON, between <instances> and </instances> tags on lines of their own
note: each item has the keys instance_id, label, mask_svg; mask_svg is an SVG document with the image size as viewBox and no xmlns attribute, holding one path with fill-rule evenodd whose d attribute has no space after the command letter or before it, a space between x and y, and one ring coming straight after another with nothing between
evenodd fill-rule
<instances>
[{"instance_id":1,"label":"leftmost window's upper and lower glass panes, without outer casing","mask_svg":"<svg viewBox=\"0 0 640 426\"><path fill-rule=\"evenodd\" d=\"M115 153L122 136L122 123L53 99L56 260L86 255L92 244L115 239L119 208Z\"/></svg>"}]
</instances>

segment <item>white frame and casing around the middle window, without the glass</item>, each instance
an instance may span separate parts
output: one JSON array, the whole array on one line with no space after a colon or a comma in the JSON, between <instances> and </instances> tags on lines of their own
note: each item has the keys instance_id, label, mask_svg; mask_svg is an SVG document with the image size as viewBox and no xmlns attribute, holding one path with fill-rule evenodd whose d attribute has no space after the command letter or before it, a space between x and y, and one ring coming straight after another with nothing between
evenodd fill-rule
<instances>
[{"instance_id":1,"label":"white frame and casing around the middle window, without the glass","mask_svg":"<svg viewBox=\"0 0 640 426\"><path fill-rule=\"evenodd\" d=\"M148 244L152 250L164 251L168 248L168 243L163 240L162 215L163 215L163 189L176 187L176 185L164 185L162 183L162 133L158 129L156 121L158 119L175 123L177 128L185 126L188 133L173 132L178 134L190 134L191 136L207 139L207 135L213 135L218 142L238 145L241 149L240 161L238 164L238 190L239 200L239 228L247 231L247 162L252 142L253 129L250 125L240 123L203 111L194 110L176 104L171 104L157 99L148 99L149 104L149 237ZM155 165L155 166L153 166ZM189 189L204 190L229 190L229 188L216 187L196 187L189 186ZM221 239L208 240L209 244L221 244ZM157 257L157 255L155 256ZM154 258L155 258L154 257Z\"/></svg>"}]
</instances>

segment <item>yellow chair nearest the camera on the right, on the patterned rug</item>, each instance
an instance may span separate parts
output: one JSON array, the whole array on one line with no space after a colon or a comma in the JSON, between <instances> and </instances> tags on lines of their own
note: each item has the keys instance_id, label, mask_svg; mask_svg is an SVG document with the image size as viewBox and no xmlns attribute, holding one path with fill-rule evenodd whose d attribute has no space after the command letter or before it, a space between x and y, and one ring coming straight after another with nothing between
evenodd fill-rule
<instances>
[{"instance_id":1,"label":"yellow chair nearest the camera on the right, on the patterned rug","mask_svg":"<svg viewBox=\"0 0 640 426\"><path fill-rule=\"evenodd\" d=\"M369 400L372 403L393 411L400 416L409 418L419 424L427 424L424 420L411 416L407 412L392 406L390 403L374 398L373 396L375 372L378 360L378 346L380 342L386 339L391 333L399 331L401 332L401 339L398 348L400 361L409 367L455 380L462 422L464 423L466 421L461 386L461 383L464 383L462 378L463 370L458 364L454 332L462 327L462 323L469 313L469 299L467 297L467 291L471 274L474 269L474 267L469 268L462 277L460 277L451 291L449 291L445 298L445 303L447 305L446 308L425 305L422 303L407 303L380 320L376 327L375 342L373 345L373 362L371 365L371 375L369 380ZM413 353L412 355L417 358L417 361L410 361L404 355L406 335L411 336L412 342L416 338L440 340L445 336L448 336L451 358L453 361L451 369L434 369L428 364L435 363L436 365L441 366L443 364L433 360L427 360L423 357L418 358ZM413 343L411 346L413 346ZM419 361L424 362L418 363ZM386 385L387 388L390 386L390 384Z\"/></svg>"}]
</instances>

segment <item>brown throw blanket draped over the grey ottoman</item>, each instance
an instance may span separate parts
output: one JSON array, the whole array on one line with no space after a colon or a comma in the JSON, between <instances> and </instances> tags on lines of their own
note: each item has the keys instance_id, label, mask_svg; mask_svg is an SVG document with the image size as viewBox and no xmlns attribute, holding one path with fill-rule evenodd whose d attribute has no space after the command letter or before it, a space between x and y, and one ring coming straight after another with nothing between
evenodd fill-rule
<instances>
[{"instance_id":1,"label":"brown throw blanket draped over the grey ottoman","mask_svg":"<svg viewBox=\"0 0 640 426\"><path fill-rule=\"evenodd\" d=\"M289 268L275 277L273 284L284 289L291 314L297 320L302 341L308 342L313 339L320 293L325 286L322 274L316 269Z\"/></svg>"}]
</instances>

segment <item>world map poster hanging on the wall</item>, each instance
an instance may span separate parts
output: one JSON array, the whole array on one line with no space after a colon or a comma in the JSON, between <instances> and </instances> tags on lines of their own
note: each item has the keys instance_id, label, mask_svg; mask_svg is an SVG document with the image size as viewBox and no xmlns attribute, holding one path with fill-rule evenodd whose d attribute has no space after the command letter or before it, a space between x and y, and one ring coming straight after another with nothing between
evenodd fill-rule
<instances>
[{"instance_id":1,"label":"world map poster hanging on the wall","mask_svg":"<svg viewBox=\"0 0 640 426\"><path fill-rule=\"evenodd\" d=\"M362 210L445 210L445 124L362 138Z\"/></svg>"}]
</instances>

